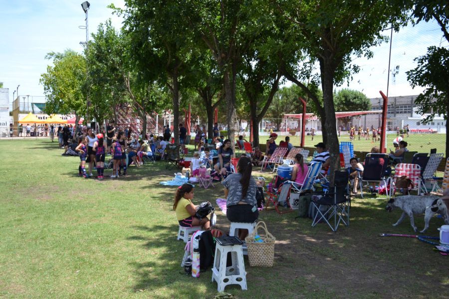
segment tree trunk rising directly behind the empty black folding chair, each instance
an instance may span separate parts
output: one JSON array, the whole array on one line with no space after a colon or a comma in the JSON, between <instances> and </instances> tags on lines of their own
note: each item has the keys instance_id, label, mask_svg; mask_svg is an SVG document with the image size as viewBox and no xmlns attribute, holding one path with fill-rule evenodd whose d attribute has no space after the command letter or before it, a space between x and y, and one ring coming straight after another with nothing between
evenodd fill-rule
<instances>
[{"instance_id":1,"label":"tree trunk rising directly behind the empty black folding chair","mask_svg":"<svg viewBox=\"0 0 449 299\"><path fill-rule=\"evenodd\" d=\"M320 58L320 71L321 71L321 87L323 89L323 106L325 112L325 122L324 127L327 137L326 146L329 149L330 154L330 165L329 165L329 178L330 185L334 185L334 172L338 170L340 165L340 149L338 143L336 117L335 117L335 107L334 107L334 97L333 97L333 86L334 86L334 73L335 68L331 63Z\"/></svg>"}]
</instances>

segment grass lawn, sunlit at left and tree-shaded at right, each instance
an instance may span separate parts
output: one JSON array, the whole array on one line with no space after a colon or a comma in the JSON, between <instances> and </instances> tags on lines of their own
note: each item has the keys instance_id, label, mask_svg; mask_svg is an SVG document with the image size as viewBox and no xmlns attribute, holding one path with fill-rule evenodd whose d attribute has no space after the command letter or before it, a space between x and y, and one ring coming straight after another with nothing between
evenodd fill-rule
<instances>
[{"instance_id":1,"label":"grass lawn, sunlit at left and tree-shaded at right","mask_svg":"<svg viewBox=\"0 0 449 299\"><path fill-rule=\"evenodd\" d=\"M176 187L159 184L175 169L157 162L131 166L129 176L119 179L83 179L77 176L79 158L61 152L48 140L0 141L0 297L218 295L210 270L199 279L181 274L184 243L176 240L172 211ZM223 196L220 184L195 190L197 204ZM310 227L310 219L295 213L261 211L277 240L275 266L249 267L245 259L248 290L229 286L225 292L238 298L446 297L448 257L416 239L378 237L413 233L408 220L391 226L400 214L386 212L384 199L356 198L350 226L333 233L324 224ZM423 216L415 221L424 227ZM427 234L438 236L443 221L430 224ZM218 227L228 226L219 212Z\"/></svg>"}]
</instances>

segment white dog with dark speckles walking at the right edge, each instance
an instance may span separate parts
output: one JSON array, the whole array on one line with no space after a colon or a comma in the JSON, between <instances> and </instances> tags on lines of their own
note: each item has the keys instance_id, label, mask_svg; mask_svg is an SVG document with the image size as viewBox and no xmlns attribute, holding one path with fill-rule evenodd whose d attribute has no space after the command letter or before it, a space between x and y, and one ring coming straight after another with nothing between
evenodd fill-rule
<instances>
[{"instance_id":1,"label":"white dog with dark speckles walking at the right edge","mask_svg":"<svg viewBox=\"0 0 449 299\"><path fill-rule=\"evenodd\" d=\"M410 223L412 224L415 232L418 230L415 226L413 214L424 214L425 226L420 233L424 233L429 228L429 221L435 215L440 213L443 216L446 224L449 225L448 207L439 196L418 196L418 195L405 195L390 199L387 203L386 210L391 212L394 207L401 208L404 212L399 218L398 222L393 226L399 225L406 215L410 217Z\"/></svg>"}]
</instances>

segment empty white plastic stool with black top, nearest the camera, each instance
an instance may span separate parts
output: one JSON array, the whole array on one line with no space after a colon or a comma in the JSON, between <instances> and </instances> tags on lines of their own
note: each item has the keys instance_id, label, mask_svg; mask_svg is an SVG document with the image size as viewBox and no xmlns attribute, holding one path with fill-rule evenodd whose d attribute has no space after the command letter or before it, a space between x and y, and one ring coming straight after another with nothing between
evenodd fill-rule
<instances>
[{"instance_id":1,"label":"empty white plastic stool with black top, nearest the camera","mask_svg":"<svg viewBox=\"0 0 449 299\"><path fill-rule=\"evenodd\" d=\"M232 261L230 267L226 267L228 253ZM246 290L246 271L241 245L222 246L217 243L212 268L212 282L214 280L217 282L218 292L223 292L227 285L240 285L242 290Z\"/></svg>"}]
</instances>

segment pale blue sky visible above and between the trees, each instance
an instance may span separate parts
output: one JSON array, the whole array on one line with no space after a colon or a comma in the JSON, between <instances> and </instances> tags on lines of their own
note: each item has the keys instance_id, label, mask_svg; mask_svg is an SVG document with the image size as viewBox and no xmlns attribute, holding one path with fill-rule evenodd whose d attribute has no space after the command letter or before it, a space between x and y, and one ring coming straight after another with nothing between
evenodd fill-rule
<instances>
[{"instance_id":1,"label":"pale blue sky visible above and between the trees","mask_svg":"<svg viewBox=\"0 0 449 299\"><path fill-rule=\"evenodd\" d=\"M0 81L9 88L12 103L13 90L20 85L20 96L43 96L39 85L40 74L45 72L50 61L45 54L65 49L82 51L80 41L85 41L85 31L78 26L84 25L83 0L0 0ZM89 32L95 32L98 24L109 17L118 28L121 19L111 15L106 6L113 2L123 7L123 0L90 0ZM385 32L390 34L390 32ZM430 45L444 46L448 43L441 38L442 32L435 22L402 28L393 33L391 68L399 65L399 73L393 82L390 76L390 96L413 95L422 89L412 90L405 72L414 67L413 59L426 53ZM349 88L364 92L368 97L379 97L379 90L386 93L389 43L374 48L374 57L370 60L355 60L361 72L354 75ZM345 83L340 88L346 88Z\"/></svg>"}]
</instances>

